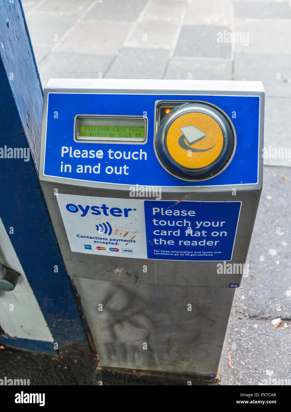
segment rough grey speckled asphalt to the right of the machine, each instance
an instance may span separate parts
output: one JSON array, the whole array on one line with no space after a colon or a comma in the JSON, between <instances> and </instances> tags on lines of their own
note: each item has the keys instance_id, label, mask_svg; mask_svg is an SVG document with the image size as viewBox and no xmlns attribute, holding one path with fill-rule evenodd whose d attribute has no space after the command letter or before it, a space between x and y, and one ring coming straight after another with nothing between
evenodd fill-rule
<instances>
[{"instance_id":1,"label":"rough grey speckled asphalt to the right of the machine","mask_svg":"<svg viewBox=\"0 0 291 412\"><path fill-rule=\"evenodd\" d=\"M291 385L290 188L291 169L264 167L249 276L235 292L223 347L223 385L260 385L269 377ZM276 328L277 318L283 322Z\"/></svg>"}]
</instances>

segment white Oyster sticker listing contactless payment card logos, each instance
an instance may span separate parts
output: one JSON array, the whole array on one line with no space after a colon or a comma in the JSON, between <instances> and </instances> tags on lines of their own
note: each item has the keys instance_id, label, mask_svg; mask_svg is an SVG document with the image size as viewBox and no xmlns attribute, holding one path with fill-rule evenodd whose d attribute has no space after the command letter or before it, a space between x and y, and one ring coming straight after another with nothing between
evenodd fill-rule
<instances>
[{"instance_id":1,"label":"white Oyster sticker listing contactless payment card logos","mask_svg":"<svg viewBox=\"0 0 291 412\"><path fill-rule=\"evenodd\" d=\"M143 200L57 195L72 252L147 258Z\"/></svg>"}]
</instances>

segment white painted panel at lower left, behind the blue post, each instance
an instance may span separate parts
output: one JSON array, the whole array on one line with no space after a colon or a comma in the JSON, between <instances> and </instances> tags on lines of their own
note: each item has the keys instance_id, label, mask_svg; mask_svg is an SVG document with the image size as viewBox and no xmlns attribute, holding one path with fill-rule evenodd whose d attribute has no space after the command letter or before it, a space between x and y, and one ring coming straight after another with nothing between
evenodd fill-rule
<instances>
[{"instance_id":1,"label":"white painted panel at lower left, behind the blue post","mask_svg":"<svg viewBox=\"0 0 291 412\"><path fill-rule=\"evenodd\" d=\"M0 291L0 325L12 337L53 342L54 339L26 279L5 227L0 219L0 260L21 277L12 292ZM31 262L33 265L33 261ZM9 310L13 304L13 311Z\"/></svg>"}]
</instances>

